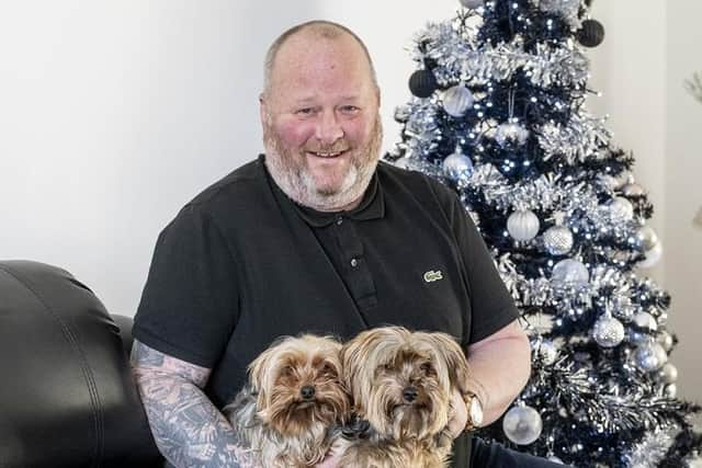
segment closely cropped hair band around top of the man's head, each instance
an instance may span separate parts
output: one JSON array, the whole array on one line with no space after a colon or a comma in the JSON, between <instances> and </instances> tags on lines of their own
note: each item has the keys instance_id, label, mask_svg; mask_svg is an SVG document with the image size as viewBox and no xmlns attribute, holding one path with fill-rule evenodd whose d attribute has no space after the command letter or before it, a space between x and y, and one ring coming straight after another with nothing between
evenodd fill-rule
<instances>
[{"instance_id":1,"label":"closely cropped hair band around top of the man's head","mask_svg":"<svg viewBox=\"0 0 702 468\"><path fill-rule=\"evenodd\" d=\"M373 60L369 49L363 44L363 41L355 35L355 33L341 24L333 23L331 21L308 21L306 23L298 24L291 27L281 34L268 49L265 54L265 61L263 64L263 94L270 94L273 83L273 72L275 68L276 58L283 46L291 39L304 37L307 39L324 39L324 41L338 41L341 38L352 38L363 52L364 57L367 60L367 66L371 75L371 81L377 89L377 78L375 76L375 68L373 67Z\"/></svg>"}]
</instances>

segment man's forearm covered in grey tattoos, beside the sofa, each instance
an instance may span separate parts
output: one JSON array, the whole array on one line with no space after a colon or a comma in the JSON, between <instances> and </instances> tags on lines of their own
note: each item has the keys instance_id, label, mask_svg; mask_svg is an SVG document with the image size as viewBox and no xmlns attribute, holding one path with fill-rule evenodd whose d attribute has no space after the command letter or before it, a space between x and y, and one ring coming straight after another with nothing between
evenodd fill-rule
<instances>
[{"instance_id":1,"label":"man's forearm covered in grey tattoos, beside the sofa","mask_svg":"<svg viewBox=\"0 0 702 468\"><path fill-rule=\"evenodd\" d=\"M132 368L156 445L172 466L254 467L229 422L202 391L210 369L136 340Z\"/></svg>"}]
</instances>

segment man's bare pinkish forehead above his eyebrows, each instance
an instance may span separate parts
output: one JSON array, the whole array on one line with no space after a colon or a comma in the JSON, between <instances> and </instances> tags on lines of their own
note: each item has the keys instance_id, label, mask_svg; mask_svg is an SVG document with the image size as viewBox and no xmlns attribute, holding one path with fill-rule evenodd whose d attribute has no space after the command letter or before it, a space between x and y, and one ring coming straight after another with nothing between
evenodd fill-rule
<instances>
[{"instance_id":1,"label":"man's bare pinkish forehead above his eyebrows","mask_svg":"<svg viewBox=\"0 0 702 468\"><path fill-rule=\"evenodd\" d=\"M346 93L363 96L373 90L371 67L361 45L348 34L324 37L301 32L279 49L271 88L286 98Z\"/></svg>"}]
</instances>

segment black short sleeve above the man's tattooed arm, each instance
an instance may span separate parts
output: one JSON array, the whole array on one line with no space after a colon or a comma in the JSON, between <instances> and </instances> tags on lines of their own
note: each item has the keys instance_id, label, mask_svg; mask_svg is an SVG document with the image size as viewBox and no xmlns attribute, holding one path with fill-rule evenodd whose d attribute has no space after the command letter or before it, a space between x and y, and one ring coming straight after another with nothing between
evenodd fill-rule
<instances>
[{"instance_id":1,"label":"black short sleeve above the man's tattooed arm","mask_svg":"<svg viewBox=\"0 0 702 468\"><path fill-rule=\"evenodd\" d=\"M134 319L134 336L212 368L238 320L234 259L214 219L186 205L160 233Z\"/></svg>"}]
</instances>

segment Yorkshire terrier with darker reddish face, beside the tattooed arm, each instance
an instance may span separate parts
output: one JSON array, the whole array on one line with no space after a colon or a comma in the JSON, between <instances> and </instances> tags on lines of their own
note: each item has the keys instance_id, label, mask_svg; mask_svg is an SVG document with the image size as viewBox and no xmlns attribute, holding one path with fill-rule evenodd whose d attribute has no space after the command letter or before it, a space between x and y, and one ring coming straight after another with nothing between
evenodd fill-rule
<instances>
[{"instance_id":1,"label":"Yorkshire terrier with darker reddish face, beside the tattooed arm","mask_svg":"<svg viewBox=\"0 0 702 468\"><path fill-rule=\"evenodd\" d=\"M223 412L257 466L320 463L349 410L341 343L310 334L274 342L249 365L249 383Z\"/></svg>"}]
</instances>

